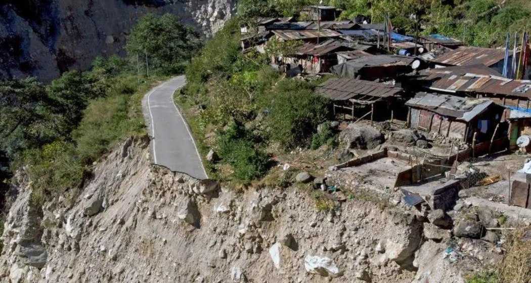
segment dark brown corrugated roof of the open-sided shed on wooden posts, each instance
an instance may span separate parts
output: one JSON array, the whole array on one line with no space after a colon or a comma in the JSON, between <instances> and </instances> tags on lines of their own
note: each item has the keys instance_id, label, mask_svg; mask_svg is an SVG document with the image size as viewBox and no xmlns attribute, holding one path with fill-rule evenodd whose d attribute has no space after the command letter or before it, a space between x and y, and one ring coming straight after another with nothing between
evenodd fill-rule
<instances>
[{"instance_id":1,"label":"dark brown corrugated roof of the open-sided shed on wooden posts","mask_svg":"<svg viewBox=\"0 0 531 283\"><path fill-rule=\"evenodd\" d=\"M352 78L332 78L322 83L316 92L332 100L348 100L358 95L387 98L402 92L393 85L356 80Z\"/></svg>"}]
</instances>

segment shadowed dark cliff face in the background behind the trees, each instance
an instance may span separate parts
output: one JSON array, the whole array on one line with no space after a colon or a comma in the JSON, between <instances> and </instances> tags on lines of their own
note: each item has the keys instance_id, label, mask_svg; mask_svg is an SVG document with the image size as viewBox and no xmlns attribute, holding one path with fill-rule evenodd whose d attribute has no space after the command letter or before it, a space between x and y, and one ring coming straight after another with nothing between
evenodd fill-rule
<instances>
[{"instance_id":1,"label":"shadowed dark cliff face in the background behind the trees","mask_svg":"<svg viewBox=\"0 0 531 283\"><path fill-rule=\"evenodd\" d=\"M233 14L236 0L7 0L0 3L0 79L86 69L99 55L123 53L146 13L172 13L206 36Z\"/></svg>"}]
</instances>

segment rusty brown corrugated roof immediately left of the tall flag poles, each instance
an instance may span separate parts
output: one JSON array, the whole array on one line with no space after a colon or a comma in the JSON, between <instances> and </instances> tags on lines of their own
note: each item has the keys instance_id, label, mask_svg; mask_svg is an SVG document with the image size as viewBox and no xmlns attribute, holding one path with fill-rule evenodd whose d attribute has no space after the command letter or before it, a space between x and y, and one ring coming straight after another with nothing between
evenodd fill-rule
<instances>
[{"instance_id":1,"label":"rusty brown corrugated roof immediately left of the tall flag poles","mask_svg":"<svg viewBox=\"0 0 531 283\"><path fill-rule=\"evenodd\" d=\"M433 59L431 62L453 65L477 65L492 66L505 58L505 49L483 48L483 47L459 47L449 50Z\"/></svg>"}]
</instances>

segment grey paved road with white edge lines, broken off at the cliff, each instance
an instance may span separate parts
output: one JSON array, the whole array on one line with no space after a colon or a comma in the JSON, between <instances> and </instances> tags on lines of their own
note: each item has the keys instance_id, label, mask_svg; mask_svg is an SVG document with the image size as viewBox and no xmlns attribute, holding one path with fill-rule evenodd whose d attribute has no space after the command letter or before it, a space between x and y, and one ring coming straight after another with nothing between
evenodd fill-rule
<instances>
[{"instance_id":1,"label":"grey paved road with white edge lines, broken off at the cliff","mask_svg":"<svg viewBox=\"0 0 531 283\"><path fill-rule=\"evenodd\" d=\"M152 137L152 161L172 171L206 179L208 175L190 128L173 101L175 90L185 84L185 76L177 76L153 88L142 99L144 118Z\"/></svg>"}]
</instances>

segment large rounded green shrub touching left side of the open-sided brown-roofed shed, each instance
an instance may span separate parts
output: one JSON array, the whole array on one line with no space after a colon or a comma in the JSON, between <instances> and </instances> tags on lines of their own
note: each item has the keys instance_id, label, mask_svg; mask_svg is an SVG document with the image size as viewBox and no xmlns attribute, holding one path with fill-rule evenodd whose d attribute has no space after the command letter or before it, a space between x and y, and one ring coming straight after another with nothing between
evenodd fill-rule
<instances>
[{"instance_id":1,"label":"large rounded green shrub touching left side of the open-sided brown-roofed shed","mask_svg":"<svg viewBox=\"0 0 531 283\"><path fill-rule=\"evenodd\" d=\"M316 127L329 116L328 101L313 93L313 85L281 80L262 100L268 112L269 136L284 148L310 145Z\"/></svg>"}]
</instances>

